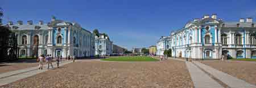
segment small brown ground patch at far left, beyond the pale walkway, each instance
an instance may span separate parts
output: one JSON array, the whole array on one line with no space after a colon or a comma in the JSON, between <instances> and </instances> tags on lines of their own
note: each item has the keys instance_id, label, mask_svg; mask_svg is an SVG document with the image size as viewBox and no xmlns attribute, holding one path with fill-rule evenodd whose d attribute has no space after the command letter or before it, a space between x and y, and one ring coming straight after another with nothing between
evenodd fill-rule
<instances>
[{"instance_id":1,"label":"small brown ground patch at far left, beyond the pale walkway","mask_svg":"<svg viewBox=\"0 0 256 88\"><path fill-rule=\"evenodd\" d=\"M0 63L0 73L35 67L37 65L38 63L36 62L36 60L18 60L9 63Z\"/></svg>"}]
</instances>

